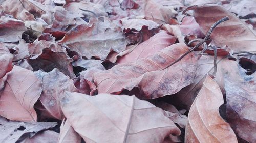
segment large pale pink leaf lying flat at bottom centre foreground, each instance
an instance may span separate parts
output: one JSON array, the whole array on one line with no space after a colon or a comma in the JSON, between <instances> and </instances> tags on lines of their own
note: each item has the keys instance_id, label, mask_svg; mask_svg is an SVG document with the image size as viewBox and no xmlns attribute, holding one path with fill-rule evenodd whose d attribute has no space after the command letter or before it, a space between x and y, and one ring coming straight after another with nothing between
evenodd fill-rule
<instances>
[{"instance_id":1,"label":"large pale pink leaf lying flat at bottom centre foreground","mask_svg":"<svg viewBox=\"0 0 256 143\"><path fill-rule=\"evenodd\" d=\"M66 92L61 109L74 130L89 143L156 143L163 142L169 134L181 133L162 109L135 96ZM82 110L74 112L77 109Z\"/></svg>"}]
</instances>

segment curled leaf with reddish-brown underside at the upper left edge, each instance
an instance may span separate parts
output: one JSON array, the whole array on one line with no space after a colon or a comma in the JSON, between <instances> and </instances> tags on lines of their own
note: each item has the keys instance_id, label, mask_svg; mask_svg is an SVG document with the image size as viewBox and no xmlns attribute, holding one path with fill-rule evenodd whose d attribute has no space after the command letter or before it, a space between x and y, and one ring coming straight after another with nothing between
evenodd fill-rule
<instances>
[{"instance_id":1,"label":"curled leaf with reddish-brown underside at the upper left edge","mask_svg":"<svg viewBox=\"0 0 256 143\"><path fill-rule=\"evenodd\" d=\"M18 42L27 29L24 22L7 20L0 23L0 42Z\"/></svg>"}]
</instances>

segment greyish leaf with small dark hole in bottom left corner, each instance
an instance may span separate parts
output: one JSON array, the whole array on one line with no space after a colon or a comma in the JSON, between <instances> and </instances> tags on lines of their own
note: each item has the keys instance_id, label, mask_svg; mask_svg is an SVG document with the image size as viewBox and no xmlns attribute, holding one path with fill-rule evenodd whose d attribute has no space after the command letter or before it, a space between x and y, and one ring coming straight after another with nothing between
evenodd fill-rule
<instances>
[{"instance_id":1,"label":"greyish leaf with small dark hole in bottom left corner","mask_svg":"<svg viewBox=\"0 0 256 143\"><path fill-rule=\"evenodd\" d=\"M30 136L35 138L37 132L57 125L55 122L17 122L7 121L0 116L0 142L15 143L20 137ZM41 133L39 133L41 134ZM44 134L44 133L43 133ZM35 136L34 136L35 135ZM33 137L34 136L34 137Z\"/></svg>"}]
</instances>

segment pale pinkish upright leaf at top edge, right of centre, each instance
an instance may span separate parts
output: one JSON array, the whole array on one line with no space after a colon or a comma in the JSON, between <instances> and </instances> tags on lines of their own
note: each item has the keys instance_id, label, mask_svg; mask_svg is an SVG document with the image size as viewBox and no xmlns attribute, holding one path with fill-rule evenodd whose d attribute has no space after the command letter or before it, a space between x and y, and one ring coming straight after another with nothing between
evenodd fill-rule
<instances>
[{"instance_id":1,"label":"pale pinkish upright leaf at top edge, right of centre","mask_svg":"<svg viewBox=\"0 0 256 143\"><path fill-rule=\"evenodd\" d=\"M158 24L169 23L170 18L177 14L174 8L164 7L154 0L145 0L143 10L147 20L152 20Z\"/></svg>"}]
</instances>

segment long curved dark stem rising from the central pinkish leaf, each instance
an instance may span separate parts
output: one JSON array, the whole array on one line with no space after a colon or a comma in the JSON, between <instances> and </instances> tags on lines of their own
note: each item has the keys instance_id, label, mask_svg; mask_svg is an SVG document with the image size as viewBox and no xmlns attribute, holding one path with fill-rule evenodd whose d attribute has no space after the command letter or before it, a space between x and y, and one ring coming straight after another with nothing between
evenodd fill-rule
<instances>
[{"instance_id":1,"label":"long curved dark stem rising from the central pinkish leaf","mask_svg":"<svg viewBox=\"0 0 256 143\"><path fill-rule=\"evenodd\" d=\"M214 28L219 25L220 23L229 20L229 18L226 16L224 18L221 18L220 20L218 20L217 22L215 22L209 29L208 33L206 34L205 38L198 43L195 47L191 48L190 50L188 50L187 52L185 52L182 56L180 56L180 58L178 58L175 62L171 63L169 66L172 66L173 64L177 63L178 61L180 61L182 58L184 58L184 56L186 56L188 53L190 53L191 51L195 50L196 48L198 48L199 46L201 46L209 37L210 34L212 33L212 31L214 30Z\"/></svg>"}]
</instances>

